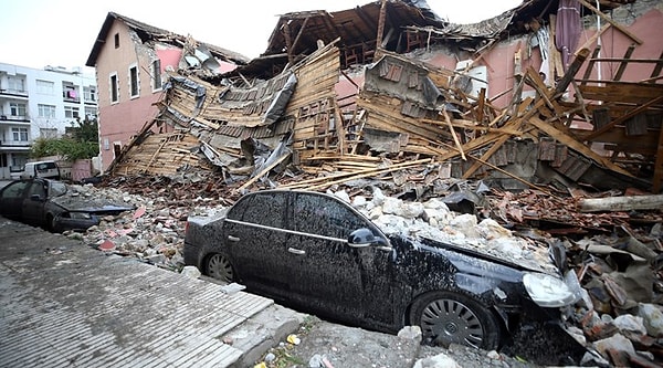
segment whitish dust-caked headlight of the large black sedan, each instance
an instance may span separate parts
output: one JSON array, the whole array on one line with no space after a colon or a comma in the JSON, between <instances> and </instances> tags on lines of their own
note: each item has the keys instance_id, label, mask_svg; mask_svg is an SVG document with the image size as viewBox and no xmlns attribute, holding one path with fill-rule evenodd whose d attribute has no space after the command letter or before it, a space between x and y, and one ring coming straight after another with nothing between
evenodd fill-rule
<instances>
[{"instance_id":1,"label":"whitish dust-caked headlight of the large black sedan","mask_svg":"<svg viewBox=\"0 0 663 368\"><path fill-rule=\"evenodd\" d=\"M565 278L545 273L525 273L523 284L534 303L543 307L560 307L580 298L576 274L568 272Z\"/></svg>"}]
</instances>

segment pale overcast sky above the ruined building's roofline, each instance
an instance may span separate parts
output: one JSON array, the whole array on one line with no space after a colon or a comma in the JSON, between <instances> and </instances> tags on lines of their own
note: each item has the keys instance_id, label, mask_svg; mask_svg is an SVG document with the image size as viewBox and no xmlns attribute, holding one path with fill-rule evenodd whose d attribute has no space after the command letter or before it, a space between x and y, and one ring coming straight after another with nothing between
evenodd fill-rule
<instances>
[{"instance_id":1,"label":"pale overcast sky above the ruined building's roofline","mask_svg":"<svg viewBox=\"0 0 663 368\"><path fill-rule=\"evenodd\" d=\"M0 63L33 69L85 66L109 11L201 42L256 57L265 51L278 14L338 11L370 0L0 0ZM428 0L453 23L474 23L522 0ZM93 72L92 69L86 69Z\"/></svg>"}]
</instances>

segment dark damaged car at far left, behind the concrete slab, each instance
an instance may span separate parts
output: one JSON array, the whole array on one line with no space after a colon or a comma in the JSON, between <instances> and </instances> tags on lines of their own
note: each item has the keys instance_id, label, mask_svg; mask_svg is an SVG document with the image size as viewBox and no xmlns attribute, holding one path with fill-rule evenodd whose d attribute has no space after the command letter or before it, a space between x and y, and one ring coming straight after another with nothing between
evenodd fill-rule
<instances>
[{"instance_id":1,"label":"dark damaged car at far left, behind the concrete slab","mask_svg":"<svg viewBox=\"0 0 663 368\"><path fill-rule=\"evenodd\" d=\"M103 197L85 197L59 180L35 178L15 180L0 190L0 214L51 231L84 231L104 215L133 210L124 202Z\"/></svg>"}]
</instances>

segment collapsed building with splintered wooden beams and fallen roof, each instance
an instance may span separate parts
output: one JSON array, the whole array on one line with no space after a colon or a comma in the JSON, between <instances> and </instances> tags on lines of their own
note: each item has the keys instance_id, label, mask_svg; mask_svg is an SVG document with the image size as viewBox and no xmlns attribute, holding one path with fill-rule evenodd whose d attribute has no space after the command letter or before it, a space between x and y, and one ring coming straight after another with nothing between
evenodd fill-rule
<instances>
[{"instance_id":1,"label":"collapsed building with splintered wooden beams and fallen roof","mask_svg":"<svg viewBox=\"0 0 663 368\"><path fill-rule=\"evenodd\" d=\"M634 8L641 14L630 17L650 22L650 13L660 17L656 2L649 8L643 2ZM594 35L613 29L613 38L632 44L623 56L599 57L592 36L566 55L565 65L554 41L559 24L554 8L526 1L470 25L449 24L410 1L284 14L266 52L248 65L211 77L173 73L159 116L109 171L164 175L196 166L218 169L232 183L255 166L242 144L274 150L283 143L273 158L277 164L243 174L264 177L287 162L349 178L371 169L433 166L441 177L487 178L505 189L582 183L657 193L659 54L631 57L646 43L597 10L587 18L610 21ZM490 96L488 88L495 90L486 61L501 43L508 48L499 51L516 48L504 65L513 67L503 78L512 85ZM543 62L539 54L547 54ZM450 57L462 61L454 69L441 66ZM601 64L617 69L614 75L597 78ZM624 80L627 71L638 78ZM152 124L177 129L159 135Z\"/></svg>"}]
</instances>

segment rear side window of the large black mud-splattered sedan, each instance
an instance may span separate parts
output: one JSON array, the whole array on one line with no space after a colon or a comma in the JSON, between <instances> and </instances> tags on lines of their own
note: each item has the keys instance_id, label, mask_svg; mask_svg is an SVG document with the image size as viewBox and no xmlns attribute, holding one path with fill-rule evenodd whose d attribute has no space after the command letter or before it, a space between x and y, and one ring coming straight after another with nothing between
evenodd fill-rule
<instances>
[{"instance_id":1,"label":"rear side window of the large black mud-splattered sedan","mask_svg":"<svg viewBox=\"0 0 663 368\"><path fill-rule=\"evenodd\" d=\"M235 203L228 213L228 218L265 227L283 228L286 194L265 192L244 197Z\"/></svg>"}]
</instances>

